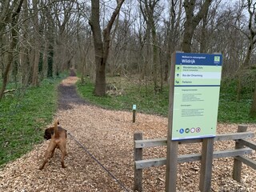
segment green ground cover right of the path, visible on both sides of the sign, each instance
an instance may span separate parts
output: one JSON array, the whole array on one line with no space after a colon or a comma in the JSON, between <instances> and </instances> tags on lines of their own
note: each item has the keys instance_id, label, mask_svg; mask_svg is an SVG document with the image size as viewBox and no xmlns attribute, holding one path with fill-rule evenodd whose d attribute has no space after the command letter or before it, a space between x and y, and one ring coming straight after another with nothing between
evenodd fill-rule
<instances>
[{"instance_id":1,"label":"green ground cover right of the path, visible on both sides of the sign","mask_svg":"<svg viewBox=\"0 0 256 192\"><path fill-rule=\"evenodd\" d=\"M117 86L118 90L122 90L122 94L95 97L94 83L90 81L87 81L85 85L78 82L78 92L88 102L110 110L131 111L135 104L138 112L168 116L169 86L164 86L161 93L154 94L153 86L145 86L142 82L131 82L125 78L107 78L107 82ZM252 89L244 87L242 97L237 102L235 80L223 82L219 99L218 122L256 122L255 118L249 116L252 94Z\"/></svg>"}]
</instances>

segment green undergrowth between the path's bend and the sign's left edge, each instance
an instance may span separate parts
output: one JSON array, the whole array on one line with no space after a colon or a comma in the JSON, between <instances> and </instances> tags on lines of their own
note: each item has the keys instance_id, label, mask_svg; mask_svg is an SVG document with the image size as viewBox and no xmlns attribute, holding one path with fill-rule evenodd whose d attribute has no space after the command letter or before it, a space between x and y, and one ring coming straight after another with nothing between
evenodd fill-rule
<instances>
[{"instance_id":1,"label":"green undergrowth between the path's bend and the sign's left edge","mask_svg":"<svg viewBox=\"0 0 256 192\"><path fill-rule=\"evenodd\" d=\"M134 85L125 79L109 78L118 87L117 95L106 95L95 97L93 94L94 84L86 82L82 85L77 83L78 93L88 102L110 110L132 110L133 105L137 111L146 114L168 115L168 88L165 87L162 93L153 94L153 86ZM117 83L118 82L118 83ZM124 86L125 84L125 86Z\"/></svg>"}]
</instances>

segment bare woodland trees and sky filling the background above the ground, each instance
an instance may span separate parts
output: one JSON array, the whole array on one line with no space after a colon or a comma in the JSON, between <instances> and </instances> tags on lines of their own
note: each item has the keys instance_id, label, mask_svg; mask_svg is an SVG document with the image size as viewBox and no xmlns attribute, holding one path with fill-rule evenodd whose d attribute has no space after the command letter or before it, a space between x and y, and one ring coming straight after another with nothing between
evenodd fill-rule
<instances>
[{"instance_id":1,"label":"bare woodland trees and sky filling the background above the ground","mask_svg":"<svg viewBox=\"0 0 256 192\"><path fill-rule=\"evenodd\" d=\"M234 86L237 101L250 94L254 117L255 9L254 0L1 0L0 101L70 68L94 82L96 96L114 76L158 94L175 50L218 52L222 82Z\"/></svg>"}]
</instances>

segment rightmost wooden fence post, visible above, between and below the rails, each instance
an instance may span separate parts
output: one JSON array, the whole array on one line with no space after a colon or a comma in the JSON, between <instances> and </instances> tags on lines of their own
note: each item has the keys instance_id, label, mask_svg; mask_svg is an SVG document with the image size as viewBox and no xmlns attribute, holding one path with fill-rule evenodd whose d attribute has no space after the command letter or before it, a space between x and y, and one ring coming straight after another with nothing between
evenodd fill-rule
<instances>
[{"instance_id":1,"label":"rightmost wooden fence post, visible above, between and below the rails","mask_svg":"<svg viewBox=\"0 0 256 192\"><path fill-rule=\"evenodd\" d=\"M238 126L238 132L246 132L247 126ZM243 145L239 142L235 142L235 149L243 148ZM242 171L242 162L234 158L233 166L233 179L237 182L241 182L241 171Z\"/></svg>"}]
</instances>

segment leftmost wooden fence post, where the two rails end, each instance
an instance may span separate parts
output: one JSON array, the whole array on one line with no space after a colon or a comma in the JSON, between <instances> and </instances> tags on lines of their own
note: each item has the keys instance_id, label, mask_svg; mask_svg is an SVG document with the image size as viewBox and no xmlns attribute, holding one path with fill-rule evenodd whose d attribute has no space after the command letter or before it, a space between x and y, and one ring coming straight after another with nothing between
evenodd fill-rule
<instances>
[{"instance_id":1,"label":"leftmost wooden fence post, where the two rails end","mask_svg":"<svg viewBox=\"0 0 256 192\"><path fill-rule=\"evenodd\" d=\"M142 133L134 134L134 141L142 140ZM134 161L142 160L142 148L136 149L134 144ZM142 169L137 170L134 163L134 190L142 192Z\"/></svg>"}]
</instances>

